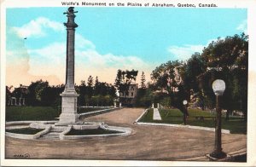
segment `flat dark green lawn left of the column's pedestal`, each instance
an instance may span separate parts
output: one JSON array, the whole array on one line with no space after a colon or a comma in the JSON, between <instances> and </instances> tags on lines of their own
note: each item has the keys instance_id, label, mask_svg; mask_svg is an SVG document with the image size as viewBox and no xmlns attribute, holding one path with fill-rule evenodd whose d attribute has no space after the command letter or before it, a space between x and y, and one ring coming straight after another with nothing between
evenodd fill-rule
<instances>
[{"instance_id":1,"label":"flat dark green lawn left of the column's pedestal","mask_svg":"<svg viewBox=\"0 0 256 167\"><path fill-rule=\"evenodd\" d=\"M55 120L61 111L54 107L6 107L6 121Z\"/></svg>"}]
</instances>

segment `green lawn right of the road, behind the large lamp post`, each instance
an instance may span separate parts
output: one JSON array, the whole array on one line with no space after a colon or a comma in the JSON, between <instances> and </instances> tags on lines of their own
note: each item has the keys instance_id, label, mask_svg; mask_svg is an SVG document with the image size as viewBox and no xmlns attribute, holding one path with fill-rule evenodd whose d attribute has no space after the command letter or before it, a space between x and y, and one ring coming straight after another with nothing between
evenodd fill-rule
<instances>
[{"instance_id":1,"label":"green lawn right of the road, behind the large lamp post","mask_svg":"<svg viewBox=\"0 0 256 167\"><path fill-rule=\"evenodd\" d=\"M162 120L153 120L153 109L149 109L148 113L140 119L140 122L146 123L162 123L162 124L183 124L183 113L178 109L163 109L160 110L160 116ZM203 117L203 120L200 119ZM215 115L198 109L189 109L189 118L187 119L187 124L203 127L214 128ZM226 121L222 118L222 128L225 130L230 130L233 134L247 134L247 122L243 118L232 118Z\"/></svg>"}]
</instances>

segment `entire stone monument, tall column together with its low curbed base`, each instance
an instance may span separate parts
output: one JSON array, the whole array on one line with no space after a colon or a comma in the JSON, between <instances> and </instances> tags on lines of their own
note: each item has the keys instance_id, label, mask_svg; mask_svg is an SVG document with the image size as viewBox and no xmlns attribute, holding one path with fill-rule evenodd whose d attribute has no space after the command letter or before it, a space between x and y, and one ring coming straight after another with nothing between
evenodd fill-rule
<instances>
[{"instance_id":1,"label":"entire stone monument, tall column together with its low curbed base","mask_svg":"<svg viewBox=\"0 0 256 167\"><path fill-rule=\"evenodd\" d=\"M78 25L74 22L75 14L73 7L67 9L67 59L66 59L66 84L65 89L61 93L61 115L59 121L33 121L29 124L29 128L37 129L39 132L35 135L24 135L6 132L7 136L20 138L20 139L43 139L43 140L73 140L73 139L86 139L88 135L83 134L84 130L103 130L100 134L90 135L90 137L102 137L113 135L130 135L130 128L122 128L116 126L108 126L103 122L88 122L79 119L77 112L77 99L78 94L74 89L74 39L75 28ZM16 101L15 101L16 103ZM10 130L20 129L19 122L14 123L14 126L9 126ZM22 128L21 128L22 129ZM81 135L67 135L72 130L79 130ZM113 133L108 133L114 131Z\"/></svg>"}]
</instances>

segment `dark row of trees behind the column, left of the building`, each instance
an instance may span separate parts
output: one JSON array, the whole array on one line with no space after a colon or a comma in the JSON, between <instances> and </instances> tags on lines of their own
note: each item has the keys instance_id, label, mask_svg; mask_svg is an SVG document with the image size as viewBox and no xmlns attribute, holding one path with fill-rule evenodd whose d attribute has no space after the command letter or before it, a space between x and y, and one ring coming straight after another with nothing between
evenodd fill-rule
<instances>
[{"instance_id":1,"label":"dark row of trees behind the column, left of the building","mask_svg":"<svg viewBox=\"0 0 256 167\"><path fill-rule=\"evenodd\" d=\"M91 77L92 78L92 77ZM96 87L86 86L85 81L82 80L80 85L75 85L76 91L79 93L78 103L79 106L89 105L113 105L113 97L115 96L115 89L113 85L108 83L101 83L96 78ZM90 84L91 85L91 84ZM32 82L27 88L26 105L28 106L61 106L61 96L65 85L49 86L47 81L38 80ZM8 89L8 87L7 87ZM8 89L9 90L9 89ZM10 92L8 97L17 96L20 97L20 89ZM92 97L94 99L92 100ZM96 102L93 102L95 101ZM104 105L103 105L104 104Z\"/></svg>"}]
</instances>

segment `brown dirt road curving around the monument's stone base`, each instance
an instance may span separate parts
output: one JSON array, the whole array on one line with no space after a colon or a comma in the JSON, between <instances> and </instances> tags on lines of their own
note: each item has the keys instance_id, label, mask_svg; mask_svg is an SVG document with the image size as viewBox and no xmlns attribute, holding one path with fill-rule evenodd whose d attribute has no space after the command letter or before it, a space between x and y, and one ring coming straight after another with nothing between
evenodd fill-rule
<instances>
[{"instance_id":1,"label":"brown dirt road curving around the monument's stone base","mask_svg":"<svg viewBox=\"0 0 256 167\"><path fill-rule=\"evenodd\" d=\"M214 132L133 124L142 113L142 108L123 108L84 118L87 121L130 127L133 131L128 136L76 141L28 141L6 137L6 158L28 153L30 158L206 160L204 155L212 152ZM224 152L235 153L242 149L246 151L246 135L222 136Z\"/></svg>"}]
</instances>

